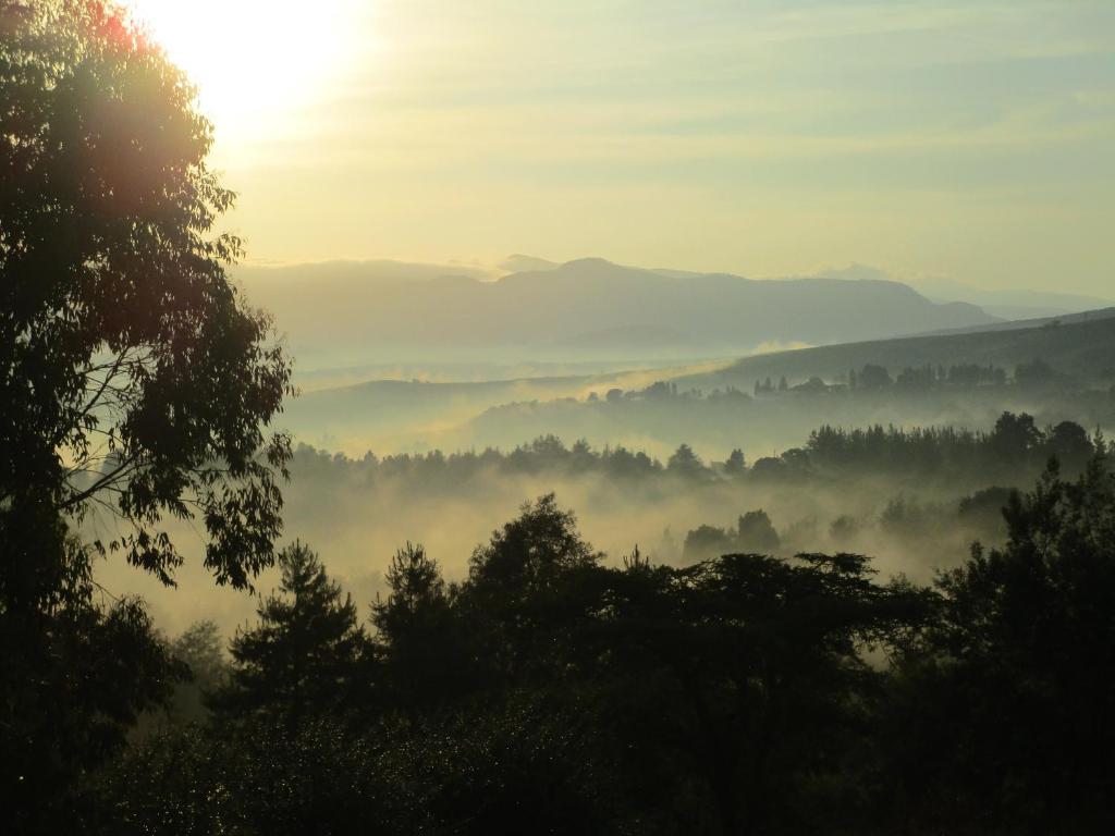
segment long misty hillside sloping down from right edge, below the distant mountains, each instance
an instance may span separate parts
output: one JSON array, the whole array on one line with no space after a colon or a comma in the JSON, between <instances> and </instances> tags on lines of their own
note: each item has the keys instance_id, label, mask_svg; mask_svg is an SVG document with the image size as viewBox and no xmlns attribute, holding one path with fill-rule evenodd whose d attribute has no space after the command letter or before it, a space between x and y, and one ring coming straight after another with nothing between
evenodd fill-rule
<instances>
[{"instance_id":1,"label":"long misty hillside sloping down from right edge, below the distant mountains","mask_svg":"<svg viewBox=\"0 0 1115 836\"><path fill-rule=\"evenodd\" d=\"M610 388L638 390L656 380L671 380L678 389L704 392L728 386L750 391L756 380L792 383L818 376L837 380L849 369L866 363L888 366L898 372L905 366L979 363L1014 370L1019 362L1037 358L1057 371L1106 386L1115 377L1115 317L1094 312L1087 319L1058 325L991 330L973 333L929 334L893 340L871 340L838 346L757 354L735 362L709 362L699 367L659 367L611 373L568 373L473 382L419 382L374 380L353 386L326 387L291 401L283 425L300 440L332 449L379 450L456 449L474 445L514 445L545 432L566 438L581 436L609 439L680 440L702 438L729 440L740 430L738 404L701 406L686 401L665 406L641 401L604 406L585 404L590 392L602 397ZM962 415L979 426L1004 408L1027 408L1025 392L986 392L949 396L947 404L933 401L912 409L893 399L866 404L849 401L840 407L847 421L896 420L914 424L942 422ZM1018 398L1021 401L1016 402ZM1006 399L1006 400L1005 400ZM1015 400L1011 400L1015 399ZM986 402L985 402L986 401ZM783 443L792 429L806 431L811 422L835 419L834 402L783 405L757 404L748 411L747 435L752 440ZM822 409L823 414L814 410ZM864 412L870 409L870 414ZM880 411L881 410L881 411ZM1047 410L1048 411L1048 410ZM1054 415L1054 412L1049 412Z\"/></svg>"}]
</instances>

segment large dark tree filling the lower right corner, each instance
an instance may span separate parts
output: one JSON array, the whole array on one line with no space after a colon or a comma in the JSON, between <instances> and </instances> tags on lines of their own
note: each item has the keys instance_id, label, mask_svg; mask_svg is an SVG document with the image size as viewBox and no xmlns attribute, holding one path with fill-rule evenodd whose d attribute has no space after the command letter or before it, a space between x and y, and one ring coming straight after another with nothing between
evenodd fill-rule
<instances>
[{"instance_id":1,"label":"large dark tree filling the lower right corner","mask_svg":"<svg viewBox=\"0 0 1115 836\"><path fill-rule=\"evenodd\" d=\"M1006 517L1005 547L977 544L938 584L940 616L896 679L886 769L902 813L938 829L1105 833L1115 476L1099 458L1075 483L1054 466Z\"/></svg>"}]
</instances>

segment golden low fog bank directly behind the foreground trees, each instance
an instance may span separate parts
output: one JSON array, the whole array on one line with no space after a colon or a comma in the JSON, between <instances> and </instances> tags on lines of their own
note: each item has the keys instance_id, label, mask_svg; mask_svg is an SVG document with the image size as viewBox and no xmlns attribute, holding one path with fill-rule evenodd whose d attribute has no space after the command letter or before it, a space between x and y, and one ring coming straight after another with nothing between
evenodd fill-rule
<instances>
[{"instance_id":1,"label":"golden low fog bank directly behind the foreground trees","mask_svg":"<svg viewBox=\"0 0 1115 836\"><path fill-rule=\"evenodd\" d=\"M619 561L637 544L656 561L694 560L701 555L683 553L691 529L712 525L731 533L741 514L762 508L780 537L777 552L866 553L876 557L884 576L904 573L928 581L934 568L962 560L973 538L1000 535L993 511L968 521L958 515L960 498L975 487L881 477L759 485L659 474L637 480L495 468L452 483L414 473L369 480L359 467L303 451L285 490L284 542L298 537L320 552L329 571L366 607L384 590L389 557L407 541L425 544L449 579L460 579L477 544L512 519L522 503L552 490L561 506L576 513L583 534L609 561ZM214 586L202 567L196 525L173 528L190 555L177 573L178 589L163 589L118 558L110 558L98 577L114 594L143 595L171 634L203 618L231 634L254 619L256 601ZM266 593L275 580L268 573L256 586Z\"/></svg>"}]
</instances>

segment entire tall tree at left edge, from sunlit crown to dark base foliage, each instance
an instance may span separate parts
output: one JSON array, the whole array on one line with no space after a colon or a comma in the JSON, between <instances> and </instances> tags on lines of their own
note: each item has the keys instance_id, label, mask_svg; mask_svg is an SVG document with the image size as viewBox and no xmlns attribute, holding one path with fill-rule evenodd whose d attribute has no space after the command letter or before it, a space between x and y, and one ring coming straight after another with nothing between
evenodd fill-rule
<instances>
[{"instance_id":1,"label":"entire tall tree at left edge, from sunlit crown to dark base foliage","mask_svg":"<svg viewBox=\"0 0 1115 836\"><path fill-rule=\"evenodd\" d=\"M171 583L163 519L197 517L220 583L273 558L290 368L225 275L193 99L117 4L0 1L0 795L36 815L167 692L94 557ZM80 543L93 513L114 534Z\"/></svg>"}]
</instances>

